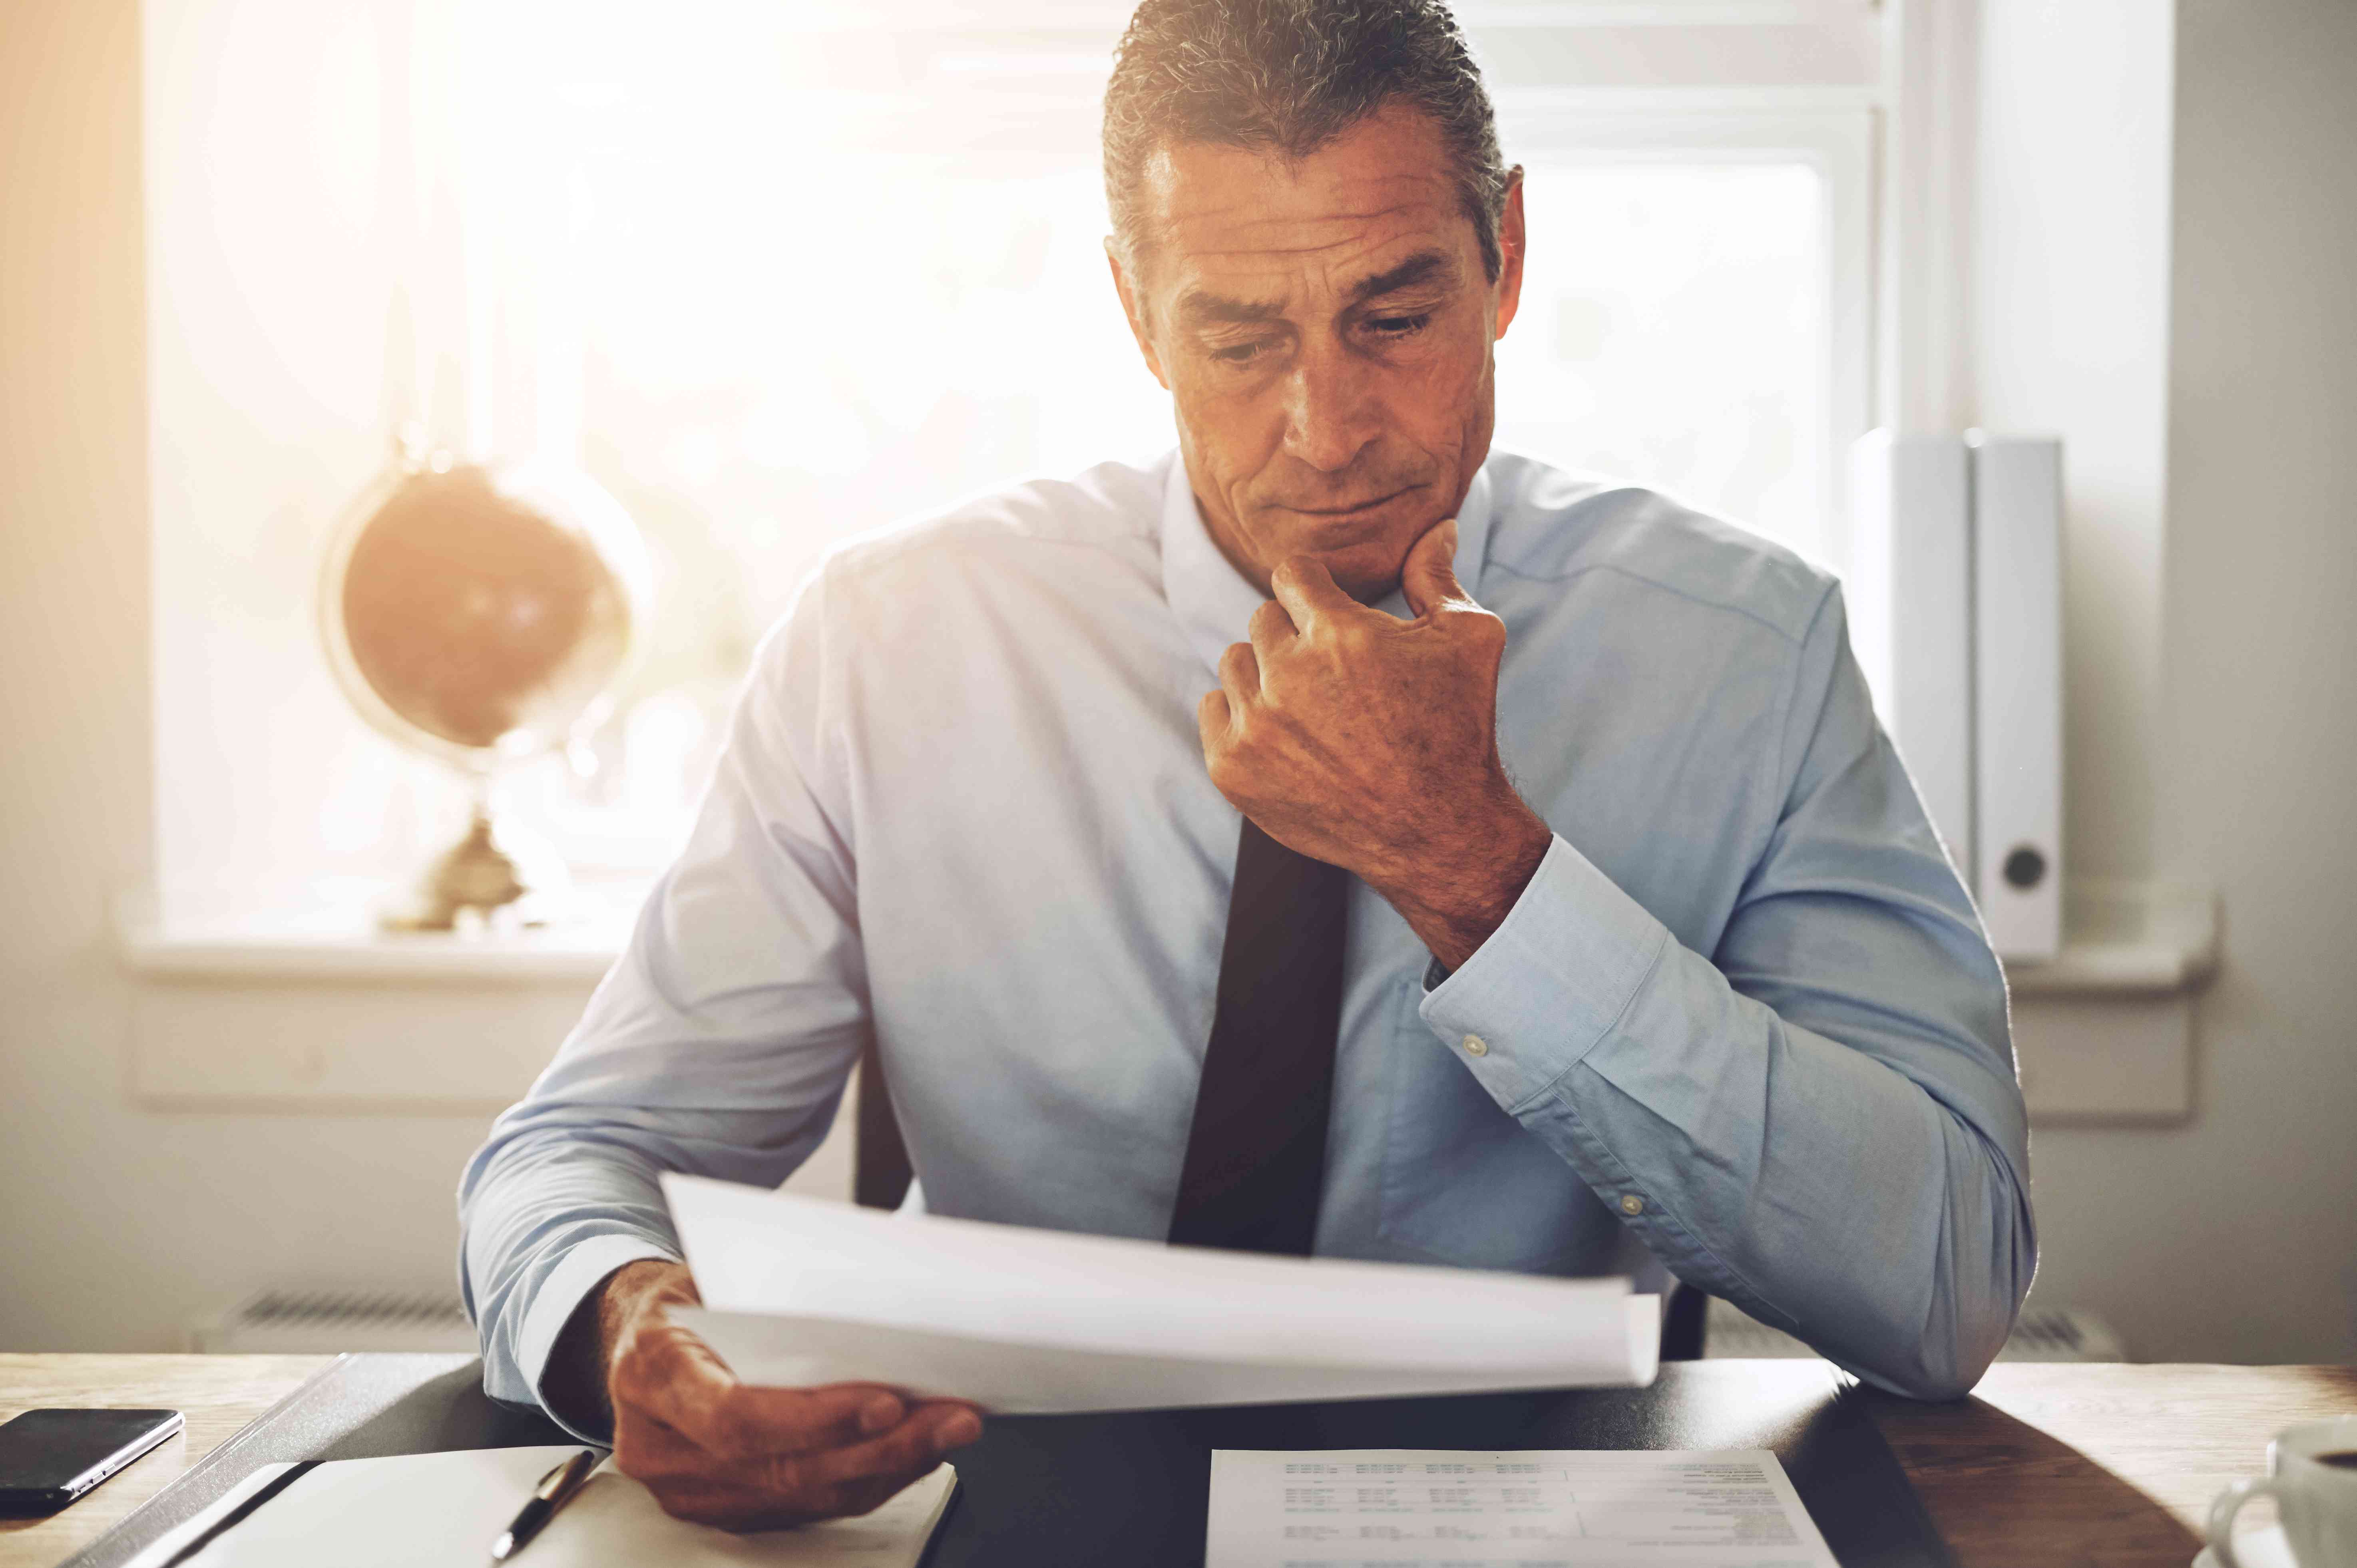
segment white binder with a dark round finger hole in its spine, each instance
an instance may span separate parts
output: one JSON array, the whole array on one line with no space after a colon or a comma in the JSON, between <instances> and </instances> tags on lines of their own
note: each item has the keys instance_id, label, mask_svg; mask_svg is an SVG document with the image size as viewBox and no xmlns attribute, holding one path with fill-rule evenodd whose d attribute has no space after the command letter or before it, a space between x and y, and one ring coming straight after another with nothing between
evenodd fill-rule
<instances>
[{"instance_id":1,"label":"white binder with a dark round finger hole in its spine","mask_svg":"<svg viewBox=\"0 0 2357 1568\"><path fill-rule=\"evenodd\" d=\"M2062 948L2062 443L1973 448L1973 839L1999 957Z\"/></svg>"}]
</instances>

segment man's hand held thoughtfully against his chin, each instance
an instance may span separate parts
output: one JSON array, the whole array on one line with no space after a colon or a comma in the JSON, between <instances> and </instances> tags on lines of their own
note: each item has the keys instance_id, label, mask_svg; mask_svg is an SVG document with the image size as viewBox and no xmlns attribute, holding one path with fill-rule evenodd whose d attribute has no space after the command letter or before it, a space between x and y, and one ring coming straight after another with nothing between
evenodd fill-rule
<instances>
[{"instance_id":1,"label":"man's hand held thoughtfully against his chin","mask_svg":"<svg viewBox=\"0 0 2357 1568\"><path fill-rule=\"evenodd\" d=\"M1268 837L1384 894L1447 967L1506 920L1551 832L1497 755L1506 625L1459 587L1457 521L1409 547L1412 620L1280 561L1197 712L1211 783Z\"/></svg>"}]
</instances>

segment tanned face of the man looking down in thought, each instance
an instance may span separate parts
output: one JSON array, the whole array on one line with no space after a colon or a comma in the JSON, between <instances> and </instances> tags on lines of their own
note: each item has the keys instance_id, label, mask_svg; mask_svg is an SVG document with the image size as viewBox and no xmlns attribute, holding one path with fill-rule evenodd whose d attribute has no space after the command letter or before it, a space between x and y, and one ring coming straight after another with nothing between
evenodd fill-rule
<instances>
[{"instance_id":1,"label":"tanned face of the man looking down in thought","mask_svg":"<svg viewBox=\"0 0 2357 1568\"><path fill-rule=\"evenodd\" d=\"M1384 108L1301 160L1178 144L1146 165L1129 325L1178 410L1221 552L1292 554L1362 601L1490 455L1492 344L1523 290L1523 189L1483 276L1433 123Z\"/></svg>"}]
</instances>

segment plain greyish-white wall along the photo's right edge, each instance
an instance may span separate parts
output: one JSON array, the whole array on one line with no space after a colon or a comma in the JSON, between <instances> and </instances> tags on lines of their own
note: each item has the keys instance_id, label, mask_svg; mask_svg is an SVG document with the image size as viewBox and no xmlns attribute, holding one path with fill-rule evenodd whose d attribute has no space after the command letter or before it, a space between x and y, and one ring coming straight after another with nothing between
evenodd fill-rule
<instances>
[{"instance_id":1,"label":"plain greyish-white wall along the photo's right edge","mask_svg":"<svg viewBox=\"0 0 2357 1568\"><path fill-rule=\"evenodd\" d=\"M2185 0L2176 59L2147 799L2225 969L2190 1125L2036 1132L2039 1294L2147 1358L2357 1361L2357 7Z\"/></svg>"}]
</instances>

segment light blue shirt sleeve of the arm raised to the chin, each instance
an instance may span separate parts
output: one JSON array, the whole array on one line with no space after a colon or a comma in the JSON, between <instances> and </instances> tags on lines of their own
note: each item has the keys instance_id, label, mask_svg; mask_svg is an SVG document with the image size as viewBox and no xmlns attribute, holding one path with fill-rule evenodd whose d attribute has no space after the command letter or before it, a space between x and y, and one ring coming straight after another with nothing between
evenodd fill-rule
<instances>
[{"instance_id":1,"label":"light blue shirt sleeve of the arm raised to the chin","mask_svg":"<svg viewBox=\"0 0 2357 1568\"><path fill-rule=\"evenodd\" d=\"M1556 837L1424 1019L1683 1280L1867 1382L1970 1389L2036 1261L2003 971L1874 719L1838 589L1716 953Z\"/></svg>"}]
</instances>

